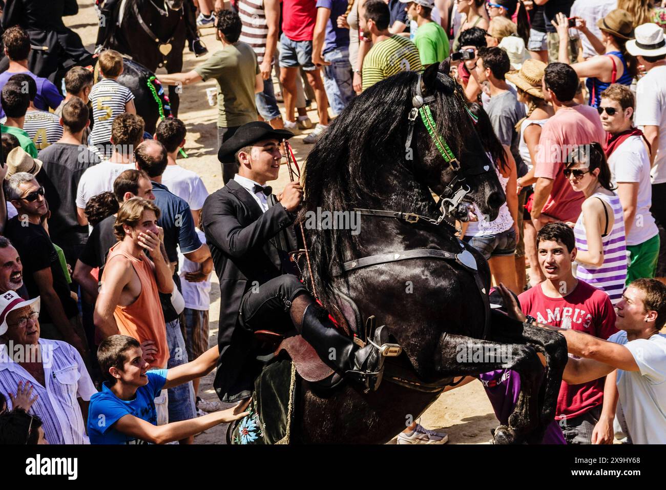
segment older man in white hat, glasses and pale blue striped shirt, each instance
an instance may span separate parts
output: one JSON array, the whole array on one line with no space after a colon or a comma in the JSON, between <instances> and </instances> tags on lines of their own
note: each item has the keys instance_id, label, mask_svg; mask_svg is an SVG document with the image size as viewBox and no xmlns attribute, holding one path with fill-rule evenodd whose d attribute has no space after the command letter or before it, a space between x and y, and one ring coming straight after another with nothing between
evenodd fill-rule
<instances>
[{"instance_id":1,"label":"older man in white hat, glasses and pale blue striped shirt","mask_svg":"<svg viewBox=\"0 0 666 490\"><path fill-rule=\"evenodd\" d=\"M39 297L0 295L0 391L11 393L19 382L30 383L37 399L29 415L41 419L47 441L88 444L83 413L97 389L74 347L40 337L39 314ZM7 403L14 408L13 400Z\"/></svg>"}]
</instances>

